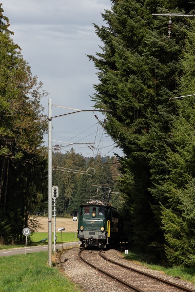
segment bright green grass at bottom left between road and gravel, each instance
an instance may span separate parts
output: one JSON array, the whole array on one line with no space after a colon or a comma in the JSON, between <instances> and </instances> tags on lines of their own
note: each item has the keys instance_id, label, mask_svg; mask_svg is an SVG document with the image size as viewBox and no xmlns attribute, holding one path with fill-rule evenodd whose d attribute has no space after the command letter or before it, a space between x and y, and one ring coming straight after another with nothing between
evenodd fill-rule
<instances>
[{"instance_id":1,"label":"bright green grass at bottom left between road and gravel","mask_svg":"<svg viewBox=\"0 0 195 292\"><path fill-rule=\"evenodd\" d=\"M1 257L0 292L75 292L79 286L47 266L46 252Z\"/></svg>"}]
</instances>

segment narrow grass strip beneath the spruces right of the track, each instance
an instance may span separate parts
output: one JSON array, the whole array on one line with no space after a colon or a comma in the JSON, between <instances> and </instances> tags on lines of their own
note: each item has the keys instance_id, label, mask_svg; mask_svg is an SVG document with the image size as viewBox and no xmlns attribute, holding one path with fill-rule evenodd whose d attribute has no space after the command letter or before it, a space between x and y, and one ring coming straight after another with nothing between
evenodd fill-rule
<instances>
[{"instance_id":1,"label":"narrow grass strip beneath the spruces right of the track","mask_svg":"<svg viewBox=\"0 0 195 292\"><path fill-rule=\"evenodd\" d=\"M180 277L181 280L195 284L195 267L165 267L158 264L149 264L144 261L144 255L137 252L129 251L128 255L124 254L125 259L148 267L152 270L159 270L163 274L172 277Z\"/></svg>"}]
</instances>

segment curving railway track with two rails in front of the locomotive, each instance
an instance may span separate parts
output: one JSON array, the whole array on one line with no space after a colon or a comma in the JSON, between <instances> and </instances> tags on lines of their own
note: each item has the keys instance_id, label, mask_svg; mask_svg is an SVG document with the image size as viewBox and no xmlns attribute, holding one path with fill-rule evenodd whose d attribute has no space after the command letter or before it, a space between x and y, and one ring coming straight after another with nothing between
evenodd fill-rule
<instances>
[{"instance_id":1,"label":"curving railway track with two rails in front of the locomotive","mask_svg":"<svg viewBox=\"0 0 195 292\"><path fill-rule=\"evenodd\" d=\"M194 292L194 290L187 287L180 286L170 281L155 277L148 273L141 272L132 267L110 260L102 251L86 251L85 249L82 249L79 252L79 257L96 270L99 270L105 275L128 287L129 291Z\"/></svg>"}]
</instances>

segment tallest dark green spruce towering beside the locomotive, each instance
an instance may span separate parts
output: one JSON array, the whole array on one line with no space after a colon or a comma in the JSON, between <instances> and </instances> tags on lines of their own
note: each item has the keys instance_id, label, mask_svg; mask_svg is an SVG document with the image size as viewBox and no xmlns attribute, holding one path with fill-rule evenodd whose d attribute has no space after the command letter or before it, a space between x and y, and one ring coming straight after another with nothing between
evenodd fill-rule
<instances>
[{"instance_id":1,"label":"tallest dark green spruce towering beside the locomotive","mask_svg":"<svg viewBox=\"0 0 195 292\"><path fill-rule=\"evenodd\" d=\"M142 251L163 252L161 204L166 204L162 183L169 175L167 147L174 148L171 127L178 115L169 101L181 92L184 39L190 27L186 18L169 18L152 12L190 12L191 1L113 0L94 25L104 46L89 55L100 83L92 100L107 113L107 133L123 149L120 189L124 194L131 241ZM187 5L188 3L188 5Z\"/></svg>"}]
</instances>

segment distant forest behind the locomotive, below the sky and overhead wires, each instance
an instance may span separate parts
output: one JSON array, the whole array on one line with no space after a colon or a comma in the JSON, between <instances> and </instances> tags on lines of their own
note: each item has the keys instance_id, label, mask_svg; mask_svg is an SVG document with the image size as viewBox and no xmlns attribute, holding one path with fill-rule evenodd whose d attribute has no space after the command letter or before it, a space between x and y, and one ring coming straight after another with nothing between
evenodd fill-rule
<instances>
[{"instance_id":1,"label":"distant forest behind the locomotive, below the sky and overhead wires","mask_svg":"<svg viewBox=\"0 0 195 292\"><path fill-rule=\"evenodd\" d=\"M113 206L120 206L120 194L116 184L120 175L120 162L116 157L84 157L71 150L66 154L53 153L52 162L52 185L59 187L57 216L76 214L81 203L87 202L92 196L101 196L104 192L105 198ZM97 188L101 186L97 193ZM109 189L111 193L107 192Z\"/></svg>"}]
</instances>

